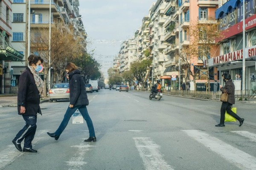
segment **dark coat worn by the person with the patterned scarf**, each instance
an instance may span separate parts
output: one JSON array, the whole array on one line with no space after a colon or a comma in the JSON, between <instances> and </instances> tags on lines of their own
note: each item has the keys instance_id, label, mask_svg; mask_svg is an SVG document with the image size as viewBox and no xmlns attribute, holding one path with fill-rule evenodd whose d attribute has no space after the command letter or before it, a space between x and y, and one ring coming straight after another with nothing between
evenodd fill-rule
<instances>
[{"instance_id":1,"label":"dark coat worn by the person with the patterned scarf","mask_svg":"<svg viewBox=\"0 0 256 170\"><path fill-rule=\"evenodd\" d=\"M34 76L28 67L20 75L17 100L19 115L41 114L39 106L40 94L35 84ZM20 113L20 106L25 106L25 113Z\"/></svg>"}]
</instances>

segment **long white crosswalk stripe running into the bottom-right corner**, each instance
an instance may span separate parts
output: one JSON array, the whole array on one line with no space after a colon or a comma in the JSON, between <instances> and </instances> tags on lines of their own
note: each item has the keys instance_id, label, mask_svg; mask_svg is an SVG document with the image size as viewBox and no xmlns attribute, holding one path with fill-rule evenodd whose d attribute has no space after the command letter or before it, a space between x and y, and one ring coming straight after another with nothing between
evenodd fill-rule
<instances>
[{"instance_id":1,"label":"long white crosswalk stripe running into the bottom-right corner","mask_svg":"<svg viewBox=\"0 0 256 170\"><path fill-rule=\"evenodd\" d=\"M199 130L183 130L190 137L218 153L242 170L256 170L256 158Z\"/></svg>"}]
</instances>

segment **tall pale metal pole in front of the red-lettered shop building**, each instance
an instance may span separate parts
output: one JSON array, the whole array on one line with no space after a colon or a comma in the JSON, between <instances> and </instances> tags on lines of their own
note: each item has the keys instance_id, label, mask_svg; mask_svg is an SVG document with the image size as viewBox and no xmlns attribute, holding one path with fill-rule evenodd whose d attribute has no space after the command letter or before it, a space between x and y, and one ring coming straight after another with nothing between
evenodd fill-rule
<instances>
[{"instance_id":1,"label":"tall pale metal pole in front of the red-lettered shop building","mask_svg":"<svg viewBox=\"0 0 256 170\"><path fill-rule=\"evenodd\" d=\"M243 68L242 68L242 90L245 90L245 0L243 0Z\"/></svg>"}]
</instances>

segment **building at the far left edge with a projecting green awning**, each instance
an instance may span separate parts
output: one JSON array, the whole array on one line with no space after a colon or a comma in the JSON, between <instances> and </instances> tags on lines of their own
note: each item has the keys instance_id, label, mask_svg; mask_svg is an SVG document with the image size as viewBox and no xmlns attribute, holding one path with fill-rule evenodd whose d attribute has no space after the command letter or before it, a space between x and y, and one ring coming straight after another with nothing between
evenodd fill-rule
<instances>
[{"instance_id":1,"label":"building at the far left edge with a projecting green awning","mask_svg":"<svg viewBox=\"0 0 256 170\"><path fill-rule=\"evenodd\" d=\"M12 64L22 61L24 55L12 45L12 3L0 0L0 94L9 94L12 85Z\"/></svg>"}]
</instances>

